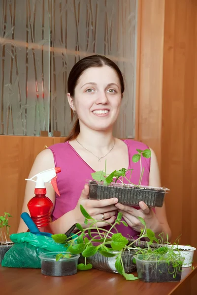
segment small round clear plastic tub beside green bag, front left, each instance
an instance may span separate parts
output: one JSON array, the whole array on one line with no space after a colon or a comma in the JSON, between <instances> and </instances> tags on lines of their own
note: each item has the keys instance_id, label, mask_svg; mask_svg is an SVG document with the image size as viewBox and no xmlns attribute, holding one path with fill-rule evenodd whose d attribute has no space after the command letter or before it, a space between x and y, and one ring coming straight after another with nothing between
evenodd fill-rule
<instances>
[{"instance_id":1,"label":"small round clear plastic tub beside green bag, front left","mask_svg":"<svg viewBox=\"0 0 197 295\"><path fill-rule=\"evenodd\" d=\"M49 276L67 276L77 273L77 264L80 257L79 254L70 254L70 258L61 258L56 261L56 255L62 253L70 254L69 252L49 252L40 254L41 273Z\"/></svg>"}]
</instances>

